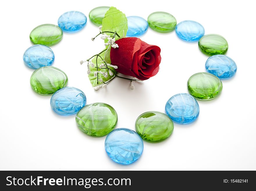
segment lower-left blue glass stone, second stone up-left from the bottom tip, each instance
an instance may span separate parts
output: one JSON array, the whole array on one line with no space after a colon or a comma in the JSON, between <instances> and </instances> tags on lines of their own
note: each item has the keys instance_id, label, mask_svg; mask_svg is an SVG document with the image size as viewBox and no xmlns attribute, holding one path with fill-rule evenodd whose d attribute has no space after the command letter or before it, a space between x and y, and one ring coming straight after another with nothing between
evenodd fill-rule
<instances>
[{"instance_id":1,"label":"lower-left blue glass stone, second stone up-left from the bottom tip","mask_svg":"<svg viewBox=\"0 0 256 191\"><path fill-rule=\"evenodd\" d=\"M55 92L51 97L51 108L59 115L77 113L86 103L85 94L73 87L65 87Z\"/></svg>"}]
</instances>

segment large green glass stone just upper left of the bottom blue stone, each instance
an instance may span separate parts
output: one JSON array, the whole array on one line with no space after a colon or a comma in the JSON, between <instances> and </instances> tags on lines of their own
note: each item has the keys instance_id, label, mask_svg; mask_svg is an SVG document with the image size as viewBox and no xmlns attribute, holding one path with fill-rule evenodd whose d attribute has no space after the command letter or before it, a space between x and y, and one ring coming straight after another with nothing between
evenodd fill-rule
<instances>
[{"instance_id":1,"label":"large green glass stone just upper left of the bottom blue stone","mask_svg":"<svg viewBox=\"0 0 256 191\"><path fill-rule=\"evenodd\" d=\"M106 103L84 106L76 116L78 128L90 136L101 137L110 133L117 124L117 113Z\"/></svg>"}]
</instances>

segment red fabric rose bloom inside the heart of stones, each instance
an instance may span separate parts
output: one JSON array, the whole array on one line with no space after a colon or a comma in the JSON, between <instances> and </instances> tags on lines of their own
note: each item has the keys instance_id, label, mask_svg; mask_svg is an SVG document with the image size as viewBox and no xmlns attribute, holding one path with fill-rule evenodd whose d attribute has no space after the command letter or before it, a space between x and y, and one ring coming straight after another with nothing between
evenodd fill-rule
<instances>
[{"instance_id":1,"label":"red fabric rose bloom inside the heart of stones","mask_svg":"<svg viewBox=\"0 0 256 191\"><path fill-rule=\"evenodd\" d=\"M111 48L110 60L118 66L117 72L147 80L157 74L161 62L158 46L147 44L139 38L121 38L115 41L119 48Z\"/></svg>"}]
</instances>

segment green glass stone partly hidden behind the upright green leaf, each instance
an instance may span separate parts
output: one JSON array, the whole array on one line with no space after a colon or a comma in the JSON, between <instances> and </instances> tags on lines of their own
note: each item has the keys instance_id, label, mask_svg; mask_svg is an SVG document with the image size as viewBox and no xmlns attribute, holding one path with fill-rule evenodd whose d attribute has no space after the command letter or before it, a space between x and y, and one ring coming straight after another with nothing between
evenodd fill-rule
<instances>
[{"instance_id":1,"label":"green glass stone partly hidden behind the upright green leaf","mask_svg":"<svg viewBox=\"0 0 256 191\"><path fill-rule=\"evenodd\" d=\"M107 12L107 10L109 10L109 8L110 7L102 6L92 9L89 13L90 21L93 24L100 26L102 24L102 19L104 18L105 13Z\"/></svg>"}]
</instances>

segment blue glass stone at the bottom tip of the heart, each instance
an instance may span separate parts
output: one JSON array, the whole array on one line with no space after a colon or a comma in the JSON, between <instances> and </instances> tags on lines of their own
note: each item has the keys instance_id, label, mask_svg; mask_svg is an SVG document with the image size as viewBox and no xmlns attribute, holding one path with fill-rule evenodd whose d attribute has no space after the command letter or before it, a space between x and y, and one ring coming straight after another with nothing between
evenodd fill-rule
<instances>
[{"instance_id":1,"label":"blue glass stone at the bottom tip of the heart","mask_svg":"<svg viewBox=\"0 0 256 191\"><path fill-rule=\"evenodd\" d=\"M141 157L143 140L135 131L118 128L106 137L105 150L116 163L129 165Z\"/></svg>"}]
</instances>

